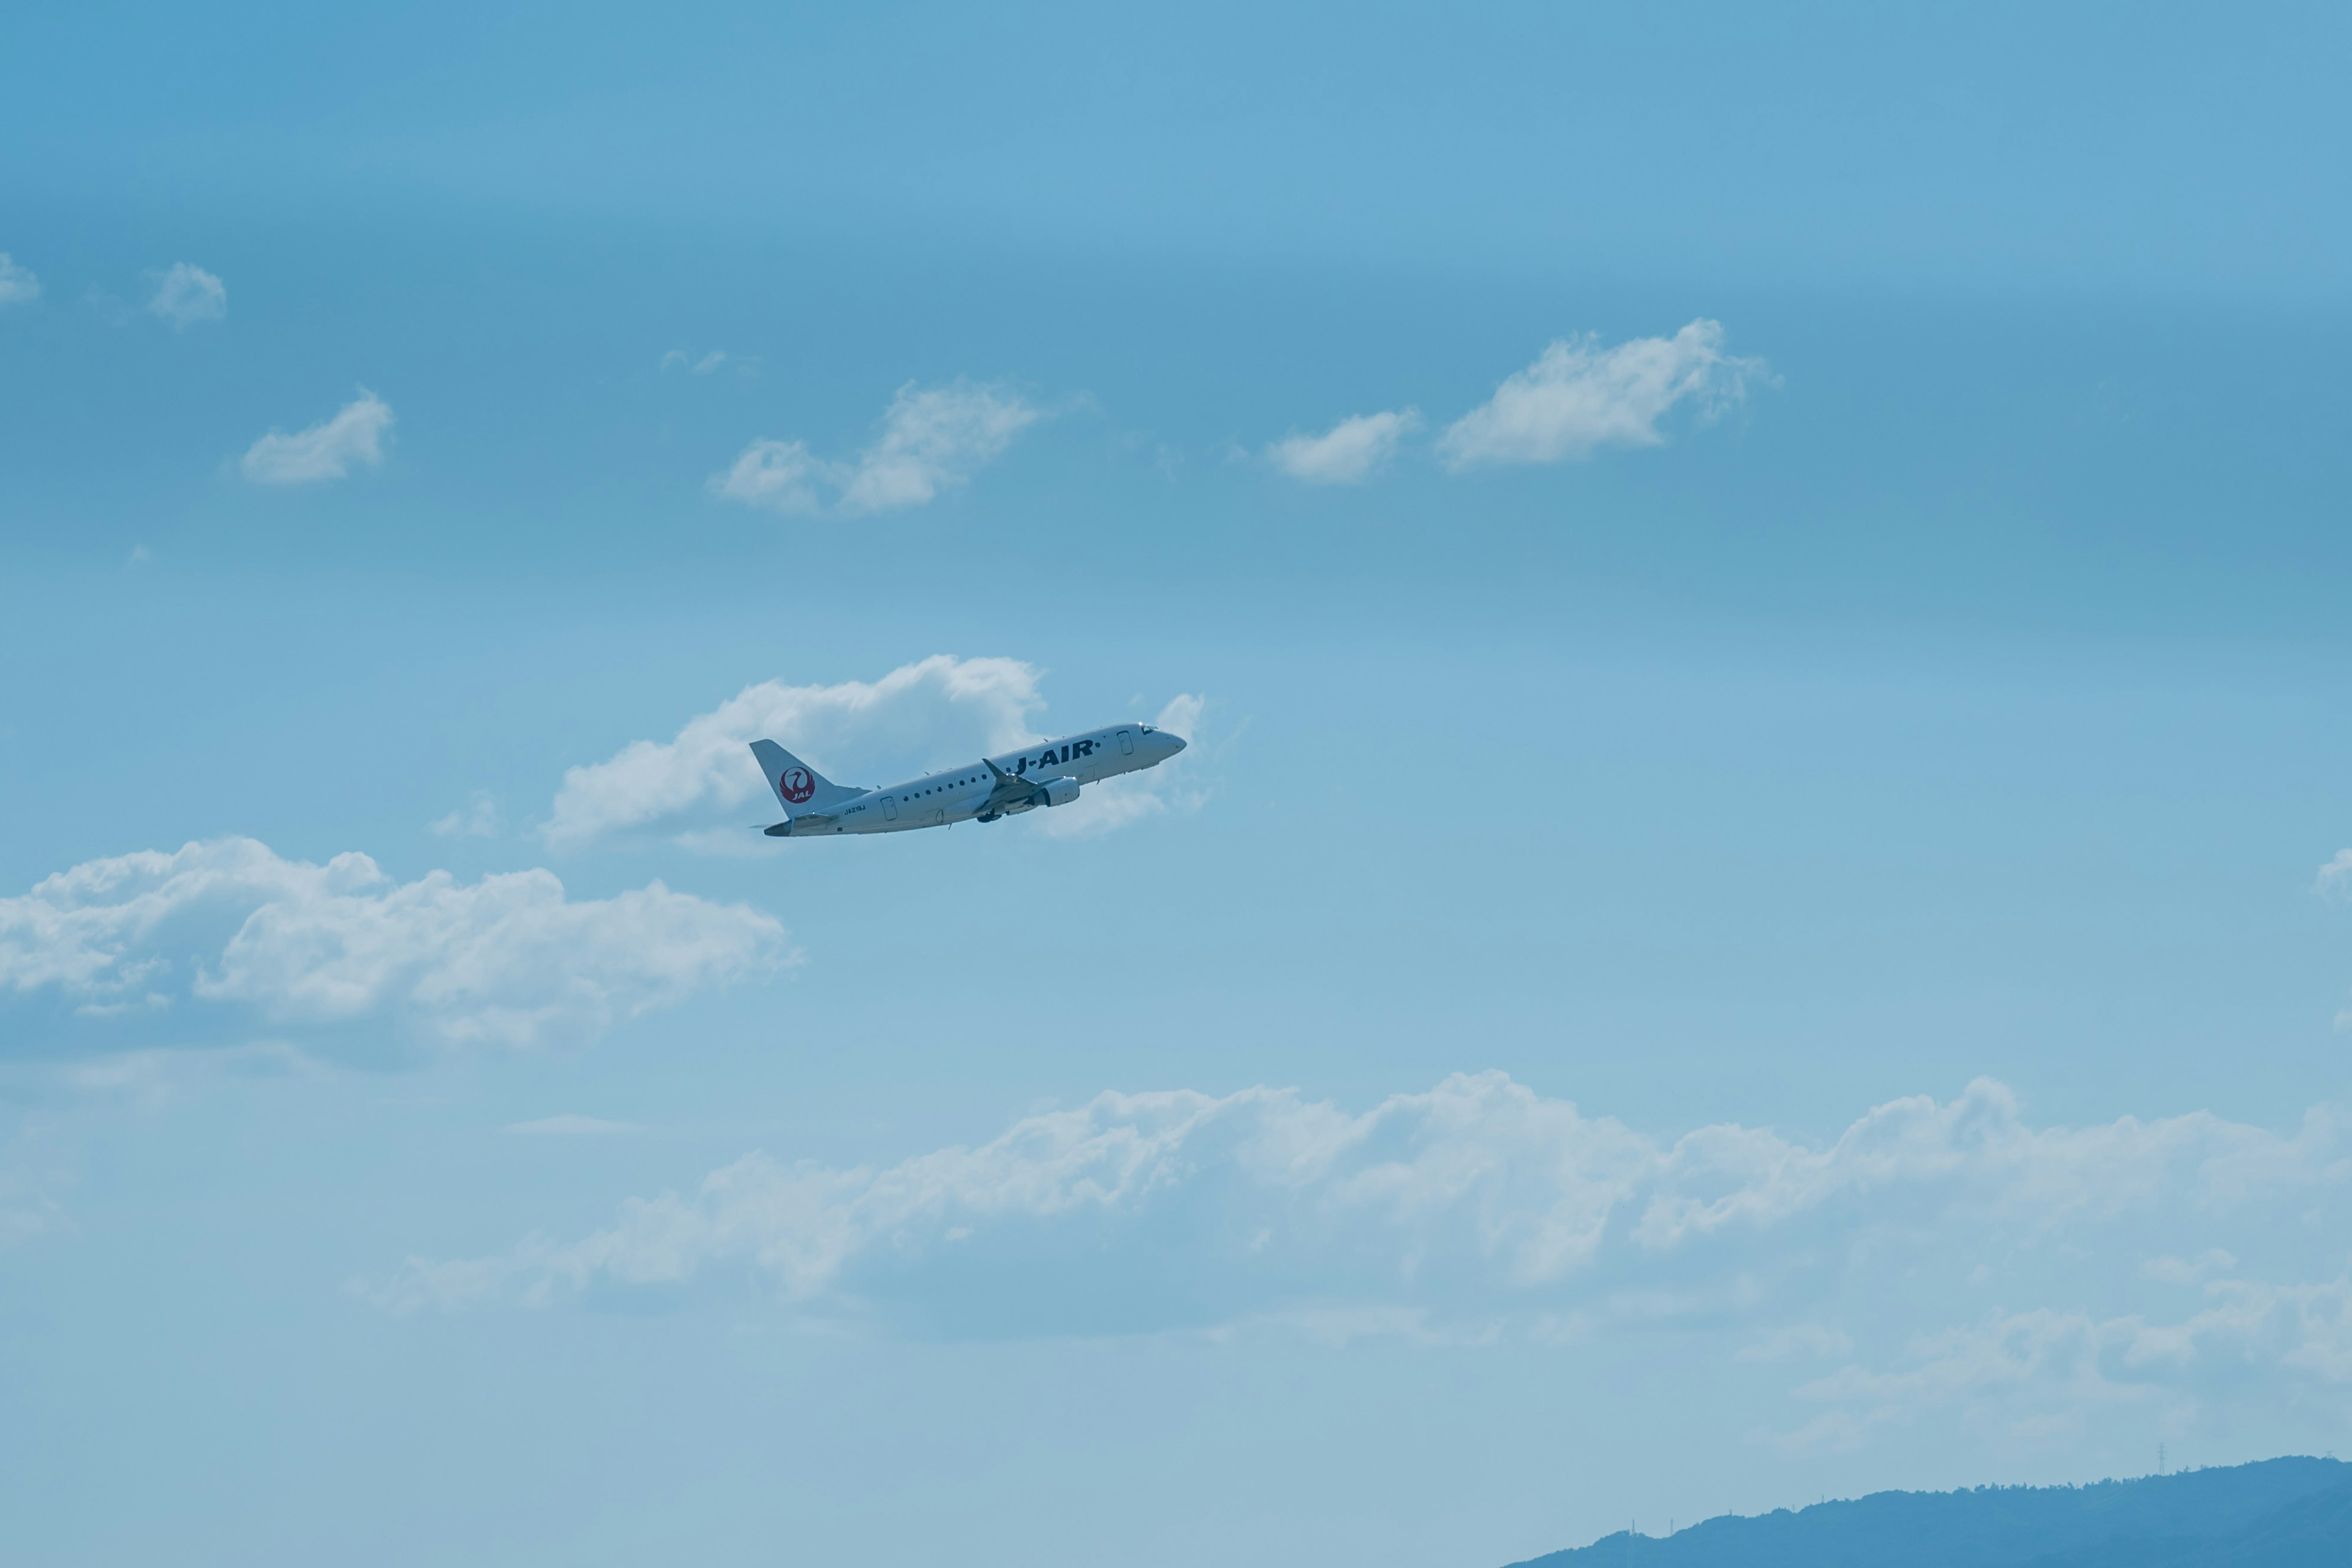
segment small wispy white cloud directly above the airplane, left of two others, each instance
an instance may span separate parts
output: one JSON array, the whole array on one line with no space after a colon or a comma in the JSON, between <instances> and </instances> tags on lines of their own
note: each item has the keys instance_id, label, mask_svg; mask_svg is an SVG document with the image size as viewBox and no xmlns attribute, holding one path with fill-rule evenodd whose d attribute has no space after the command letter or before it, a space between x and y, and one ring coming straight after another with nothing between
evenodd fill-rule
<instances>
[{"instance_id":1,"label":"small wispy white cloud directly above the airplane, left of two others","mask_svg":"<svg viewBox=\"0 0 2352 1568\"><path fill-rule=\"evenodd\" d=\"M706 367L713 362L694 369ZM882 433L854 461L828 463L802 442L755 440L727 473L710 475L710 494L781 512L814 512L821 505L816 484L826 484L849 515L922 505L969 482L1037 418L1033 404L1002 386L953 381L917 388L910 381L882 414Z\"/></svg>"}]
</instances>

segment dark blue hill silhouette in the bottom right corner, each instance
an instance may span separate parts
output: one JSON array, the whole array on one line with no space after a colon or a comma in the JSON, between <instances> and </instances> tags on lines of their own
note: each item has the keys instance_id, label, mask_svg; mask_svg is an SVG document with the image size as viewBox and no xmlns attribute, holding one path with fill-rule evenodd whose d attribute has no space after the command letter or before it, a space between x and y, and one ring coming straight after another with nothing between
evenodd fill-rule
<instances>
[{"instance_id":1,"label":"dark blue hill silhouette in the bottom right corner","mask_svg":"<svg viewBox=\"0 0 2352 1568\"><path fill-rule=\"evenodd\" d=\"M2352 1465L2263 1460L2096 1486L1872 1493L1618 1530L1512 1568L2347 1568Z\"/></svg>"}]
</instances>

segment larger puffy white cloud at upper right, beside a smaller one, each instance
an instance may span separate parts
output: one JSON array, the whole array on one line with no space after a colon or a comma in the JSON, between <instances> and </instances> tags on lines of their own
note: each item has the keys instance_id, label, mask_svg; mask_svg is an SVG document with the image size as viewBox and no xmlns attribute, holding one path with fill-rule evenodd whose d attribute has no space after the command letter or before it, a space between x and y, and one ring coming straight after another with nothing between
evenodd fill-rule
<instances>
[{"instance_id":1,"label":"larger puffy white cloud at upper right, beside a smaller one","mask_svg":"<svg viewBox=\"0 0 2352 1568\"><path fill-rule=\"evenodd\" d=\"M1698 320L1670 339L1602 348L1585 336L1559 341L1494 397L1437 437L1449 468L1557 463L1595 447L1656 447L1658 421L1679 402L1715 414L1764 374L1762 360L1724 353L1722 322Z\"/></svg>"}]
</instances>

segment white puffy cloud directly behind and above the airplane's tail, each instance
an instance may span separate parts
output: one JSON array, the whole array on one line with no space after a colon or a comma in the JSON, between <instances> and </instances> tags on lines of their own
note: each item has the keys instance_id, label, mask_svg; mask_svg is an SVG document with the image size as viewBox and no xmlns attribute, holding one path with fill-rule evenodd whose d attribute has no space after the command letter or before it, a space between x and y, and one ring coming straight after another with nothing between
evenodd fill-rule
<instances>
[{"instance_id":1,"label":"white puffy cloud directly behind and above the airplane's tail","mask_svg":"<svg viewBox=\"0 0 2352 1568\"><path fill-rule=\"evenodd\" d=\"M851 764L889 773L863 783L889 783L941 759L1033 741L1028 719L1042 705L1037 670L1016 658L934 654L877 682L760 682L687 719L673 741L633 741L604 762L564 771L541 832L550 844L579 846L628 827L764 799L760 766L746 750L762 736L835 783L858 783L835 771Z\"/></svg>"}]
</instances>

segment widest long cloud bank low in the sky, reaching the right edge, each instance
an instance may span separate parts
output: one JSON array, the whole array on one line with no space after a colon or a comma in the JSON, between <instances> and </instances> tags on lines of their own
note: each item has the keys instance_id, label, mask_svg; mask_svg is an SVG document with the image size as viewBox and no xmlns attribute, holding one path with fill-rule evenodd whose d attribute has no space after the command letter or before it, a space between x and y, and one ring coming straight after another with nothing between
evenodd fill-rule
<instances>
[{"instance_id":1,"label":"widest long cloud bank low in the sky, reaching the right edge","mask_svg":"<svg viewBox=\"0 0 2352 1568\"><path fill-rule=\"evenodd\" d=\"M1677 1356L1785 1380L1757 1436L1790 1453L1922 1420L2079 1443L2232 1408L2352 1418L2347 1182L2343 1107L2284 1133L2204 1112L2034 1126L1985 1079L1828 1143L1653 1138L1501 1072L1367 1112L1263 1086L1103 1093L894 1161L746 1154L588 1234L409 1258L365 1293L553 1307L748 1276L781 1314L868 1333L1599 1356L1677 1335Z\"/></svg>"}]
</instances>

